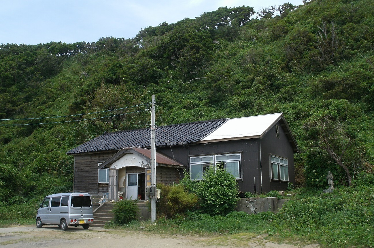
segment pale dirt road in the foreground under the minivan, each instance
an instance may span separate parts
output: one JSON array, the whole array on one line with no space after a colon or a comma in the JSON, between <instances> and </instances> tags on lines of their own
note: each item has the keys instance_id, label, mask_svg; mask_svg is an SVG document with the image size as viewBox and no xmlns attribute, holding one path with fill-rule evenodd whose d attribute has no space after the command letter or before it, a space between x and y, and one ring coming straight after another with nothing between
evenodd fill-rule
<instances>
[{"instance_id":1,"label":"pale dirt road in the foreground under the minivan","mask_svg":"<svg viewBox=\"0 0 374 248\"><path fill-rule=\"evenodd\" d=\"M57 226L18 226L0 228L0 248L213 248L213 247L249 247L249 248L316 248L316 245L297 246L266 242L259 236L168 236L152 235L140 230L106 230L90 227L69 227L67 231Z\"/></svg>"}]
</instances>

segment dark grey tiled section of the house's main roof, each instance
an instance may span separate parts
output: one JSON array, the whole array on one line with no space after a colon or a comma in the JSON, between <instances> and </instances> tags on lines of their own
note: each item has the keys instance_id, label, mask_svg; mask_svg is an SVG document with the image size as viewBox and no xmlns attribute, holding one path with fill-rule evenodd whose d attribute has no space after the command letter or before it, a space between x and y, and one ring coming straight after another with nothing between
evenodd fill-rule
<instances>
[{"instance_id":1,"label":"dark grey tiled section of the house's main roof","mask_svg":"<svg viewBox=\"0 0 374 248\"><path fill-rule=\"evenodd\" d=\"M225 121L226 119L218 119L157 127L156 147L195 143ZM150 147L150 128L105 133L68 151L67 154L119 150L129 146Z\"/></svg>"}]
</instances>

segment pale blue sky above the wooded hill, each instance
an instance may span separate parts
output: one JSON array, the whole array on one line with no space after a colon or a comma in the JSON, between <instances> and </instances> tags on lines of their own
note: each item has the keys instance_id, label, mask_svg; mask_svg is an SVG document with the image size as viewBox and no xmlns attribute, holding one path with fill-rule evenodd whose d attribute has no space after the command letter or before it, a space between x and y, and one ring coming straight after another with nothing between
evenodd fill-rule
<instances>
[{"instance_id":1,"label":"pale blue sky above the wooded hill","mask_svg":"<svg viewBox=\"0 0 374 248\"><path fill-rule=\"evenodd\" d=\"M286 2L303 4L302 0L0 0L0 44L127 39L141 28L195 18L219 7L245 5L258 12Z\"/></svg>"}]
</instances>

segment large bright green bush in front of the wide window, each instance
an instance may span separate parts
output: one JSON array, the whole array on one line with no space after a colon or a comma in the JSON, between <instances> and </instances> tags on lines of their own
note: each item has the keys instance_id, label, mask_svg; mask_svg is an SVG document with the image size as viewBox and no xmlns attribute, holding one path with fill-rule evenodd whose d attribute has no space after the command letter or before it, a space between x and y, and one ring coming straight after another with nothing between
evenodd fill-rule
<instances>
[{"instance_id":1,"label":"large bright green bush in front of the wide window","mask_svg":"<svg viewBox=\"0 0 374 248\"><path fill-rule=\"evenodd\" d=\"M222 215L232 212L237 204L237 181L224 169L209 169L199 182L197 195L204 213Z\"/></svg>"}]
</instances>

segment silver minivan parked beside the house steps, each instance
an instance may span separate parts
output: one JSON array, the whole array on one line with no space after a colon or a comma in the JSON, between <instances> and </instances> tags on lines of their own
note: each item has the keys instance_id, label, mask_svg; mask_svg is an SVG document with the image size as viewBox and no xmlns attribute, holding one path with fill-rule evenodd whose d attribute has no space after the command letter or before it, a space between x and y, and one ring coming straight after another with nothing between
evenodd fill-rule
<instances>
[{"instance_id":1,"label":"silver minivan parked beside the house steps","mask_svg":"<svg viewBox=\"0 0 374 248\"><path fill-rule=\"evenodd\" d=\"M58 225L61 230L68 226L88 229L93 222L92 201L88 193L61 193L48 195L40 203L36 226Z\"/></svg>"}]
</instances>

